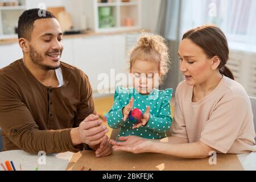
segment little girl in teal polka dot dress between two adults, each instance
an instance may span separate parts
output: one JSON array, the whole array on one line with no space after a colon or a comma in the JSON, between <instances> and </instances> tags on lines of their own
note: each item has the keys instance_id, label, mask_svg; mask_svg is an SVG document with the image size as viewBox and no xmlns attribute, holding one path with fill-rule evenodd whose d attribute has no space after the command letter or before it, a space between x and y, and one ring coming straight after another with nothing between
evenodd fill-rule
<instances>
[{"instance_id":1,"label":"little girl in teal polka dot dress between two adults","mask_svg":"<svg viewBox=\"0 0 256 182\"><path fill-rule=\"evenodd\" d=\"M170 100L172 89L158 90L170 65L168 47L162 36L144 34L130 54L133 88L117 86L108 125L119 129L118 137L137 135L148 139L165 138L172 123ZM133 109L143 113L142 122L129 119Z\"/></svg>"}]
</instances>

